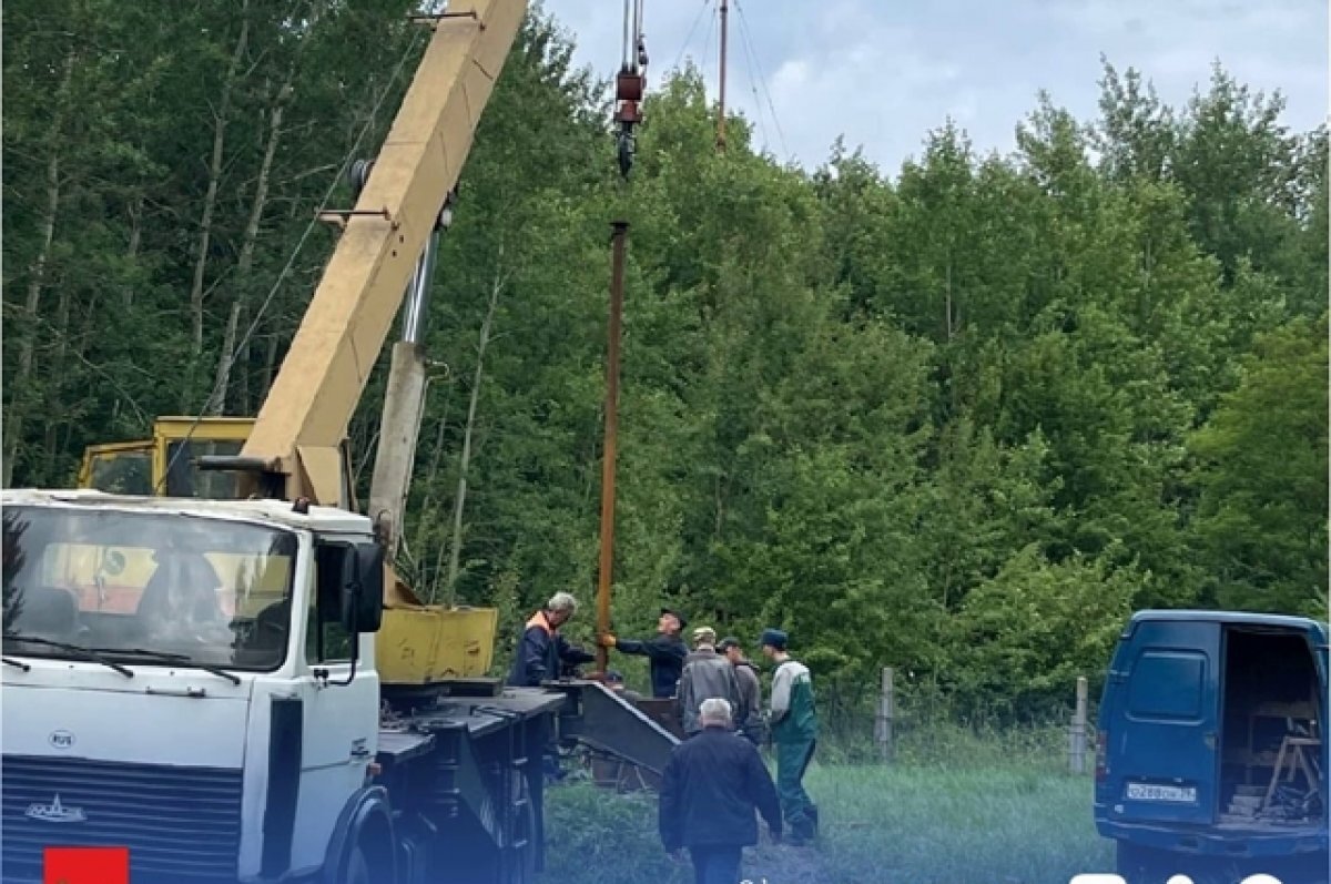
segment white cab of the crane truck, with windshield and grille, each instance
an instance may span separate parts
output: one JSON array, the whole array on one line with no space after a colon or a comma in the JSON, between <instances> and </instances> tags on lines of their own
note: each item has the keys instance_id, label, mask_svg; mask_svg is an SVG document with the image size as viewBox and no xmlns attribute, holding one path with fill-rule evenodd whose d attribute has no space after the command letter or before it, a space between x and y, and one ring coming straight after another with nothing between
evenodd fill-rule
<instances>
[{"instance_id":1,"label":"white cab of the crane truck, with windshield and grille","mask_svg":"<svg viewBox=\"0 0 1331 884\"><path fill-rule=\"evenodd\" d=\"M379 738L370 521L280 501L0 494L4 880L315 873Z\"/></svg>"}]
</instances>

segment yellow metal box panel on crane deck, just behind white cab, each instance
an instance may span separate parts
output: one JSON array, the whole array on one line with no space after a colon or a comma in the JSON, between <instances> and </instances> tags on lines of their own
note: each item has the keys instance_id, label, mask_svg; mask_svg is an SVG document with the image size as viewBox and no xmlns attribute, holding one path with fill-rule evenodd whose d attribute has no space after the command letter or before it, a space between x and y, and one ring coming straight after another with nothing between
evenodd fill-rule
<instances>
[{"instance_id":1,"label":"yellow metal box panel on crane deck, just behind white cab","mask_svg":"<svg viewBox=\"0 0 1331 884\"><path fill-rule=\"evenodd\" d=\"M394 607L383 611L374 664L386 684L479 678L494 658L495 608Z\"/></svg>"}]
</instances>

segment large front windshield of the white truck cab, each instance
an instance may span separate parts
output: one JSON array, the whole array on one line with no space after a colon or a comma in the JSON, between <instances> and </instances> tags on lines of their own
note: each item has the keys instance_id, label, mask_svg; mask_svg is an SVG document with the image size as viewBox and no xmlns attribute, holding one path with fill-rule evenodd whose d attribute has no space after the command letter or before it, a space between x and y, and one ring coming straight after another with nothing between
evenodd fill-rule
<instances>
[{"instance_id":1,"label":"large front windshield of the white truck cab","mask_svg":"<svg viewBox=\"0 0 1331 884\"><path fill-rule=\"evenodd\" d=\"M4 652L272 671L297 538L202 517L7 506Z\"/></svg>"}]
</instances>

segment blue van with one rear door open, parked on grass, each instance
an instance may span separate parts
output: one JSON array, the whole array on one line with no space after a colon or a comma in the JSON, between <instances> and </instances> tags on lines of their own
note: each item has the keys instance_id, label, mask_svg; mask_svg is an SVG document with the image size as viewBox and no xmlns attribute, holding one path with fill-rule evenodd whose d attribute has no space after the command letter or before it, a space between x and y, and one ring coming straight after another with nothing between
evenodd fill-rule
<instances>
[{"instance_id":1,"label":"blue van with one rear door open, parked on grass","mask_svg":"<svg viewBox=\"0 0 1331 884\"><path fill-rule=\"evenodd\" d=\"M1095 828L1129 884L1327 875L1327 624L1138 611L1095 744Z\"/></svg>"}]
</instances>

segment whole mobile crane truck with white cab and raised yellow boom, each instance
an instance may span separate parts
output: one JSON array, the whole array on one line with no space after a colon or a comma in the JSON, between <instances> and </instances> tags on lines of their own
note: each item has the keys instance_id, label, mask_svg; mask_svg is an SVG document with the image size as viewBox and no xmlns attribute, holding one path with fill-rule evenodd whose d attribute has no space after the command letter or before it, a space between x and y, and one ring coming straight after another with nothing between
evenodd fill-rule
<instances>
[{"instance_id":1,"label":"whole mobile crane truck with white cab and raised yellow boom","mask_svg":"<svg viewBox=\"0 0 1331 884\"><path fill-rule=\"evenodd\" d=\"M419 604L391 567L434 248L524 13L421 16L257 418L165 418L91 451L92 487L3 493L5 884L51 847L128 848L133 884L527 883L554 740L664 766L675 738L595 680L480 678L495 612ZM346 431L405 294L371 519Z\"/></svg>"}]
</instances>

